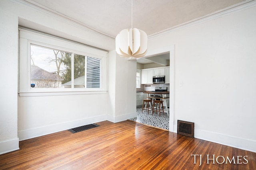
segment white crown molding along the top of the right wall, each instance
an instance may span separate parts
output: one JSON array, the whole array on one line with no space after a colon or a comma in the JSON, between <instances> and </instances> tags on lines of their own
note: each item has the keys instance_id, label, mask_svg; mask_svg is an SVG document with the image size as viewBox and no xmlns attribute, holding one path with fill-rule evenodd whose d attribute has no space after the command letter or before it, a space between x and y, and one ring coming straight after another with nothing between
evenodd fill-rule
<instances>
[{"instance_id":1,"label":"white crown molding along the top of the right wall","mask_svg":"<svg viewBox=\"0 0 256 170\"><path fill-rule=\"evenodd\" d=\"M246 0L244 2L240 2L238 4L235 4L235 5L232 5L230 7L224 8L222 10L218 10L218 11L213 12L211 14L208 14L206 16L202 16L200 18L196 18L194 20L190 20L188 22L176 25L174 27L164 29L164 30L159 31L157 33L150 34L150 35L148 35L148 39L152 39L154 37L159 37L159 36L167 34L167 33L179 31L179 30L186 29L186 28L189 28L189 27L192 27L192 26L204 23L204 22L215 20L217 18L228 16L230 14L234 14L236 12L246 10L248 8L252 8L254 6L256 6L256 0Z\"/></svg>"}]
</instances>

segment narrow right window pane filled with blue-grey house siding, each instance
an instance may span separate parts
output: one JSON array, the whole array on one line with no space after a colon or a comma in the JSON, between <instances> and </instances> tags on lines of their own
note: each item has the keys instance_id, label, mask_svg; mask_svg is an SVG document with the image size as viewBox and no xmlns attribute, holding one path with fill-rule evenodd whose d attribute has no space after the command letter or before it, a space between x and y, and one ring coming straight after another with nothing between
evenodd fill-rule
<instances>
[{"instance_id":1,"label":"narrow right window pane filled with blue-grey house siding","mask_svg":"<svg viewBox=\"0 0 256 170\"><path fill-rule=\"evenodd\" d=\"M86 87L100 88L100 59L87 57Z\"/></svg>"}]
</instances>

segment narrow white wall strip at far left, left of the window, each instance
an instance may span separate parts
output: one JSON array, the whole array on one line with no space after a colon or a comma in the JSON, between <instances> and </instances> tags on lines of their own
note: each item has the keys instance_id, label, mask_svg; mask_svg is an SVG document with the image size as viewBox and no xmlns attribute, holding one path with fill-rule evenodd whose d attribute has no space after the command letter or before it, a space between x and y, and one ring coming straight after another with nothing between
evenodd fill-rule
<instances>
[{"instance_id":1,"label":"narrow white wall strip at far left, left of the window","mask_svg":"<svg viewBox=\"0 0 256 170\"><path fill-rule=\"evenodd\" d=\"M17 136L18 18L0 1L0 154L19 149ZM8 30L8 31L6 31Z\"/></svg>"}]
</instances>

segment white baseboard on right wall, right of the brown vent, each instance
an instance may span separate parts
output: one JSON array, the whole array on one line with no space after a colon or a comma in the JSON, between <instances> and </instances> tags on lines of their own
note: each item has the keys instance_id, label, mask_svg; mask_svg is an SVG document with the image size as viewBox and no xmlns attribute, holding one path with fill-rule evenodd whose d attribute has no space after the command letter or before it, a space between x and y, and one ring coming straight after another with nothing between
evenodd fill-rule
<instances>
[{"instance_id":1,"label":"white baseboard on right wall, right of the brown vent","mask_svg":"<svg viewBox=\"0 0 256 170\"><path fill-rule=\"evenodd\" d=\"M221 145L226 145L238 149L248 150L251 152L256 152L256 141L250 139L242 139L239 137L223 135L220 133L214 133L210 131L204 131L200 129L195 129L195 138L202 139L205 141L210 141L218 143Z\"/></svg>"}]
</instances>

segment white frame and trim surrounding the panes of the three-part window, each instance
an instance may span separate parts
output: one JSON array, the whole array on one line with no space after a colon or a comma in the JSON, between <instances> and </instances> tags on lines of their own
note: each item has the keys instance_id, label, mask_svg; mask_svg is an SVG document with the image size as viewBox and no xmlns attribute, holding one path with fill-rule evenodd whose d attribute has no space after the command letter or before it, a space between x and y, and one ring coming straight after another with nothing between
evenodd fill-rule
<instances>
[{"instance_id":1,"label":"white frame and trim surrounding the panes of the three-part window","mask_svg":"<svg viewBox=\"0 0 256 170\"><path fill-rule=\"evenodd\" d=\"M18 93L20 96L55 96L70 94L98 94L107 92L107 51L88 47L80 43L75 43L73 41L68 41L29 29L19 28L19 31L20 69ZM100 88L31 88L31 44L100 59Z\"/></svg>"}]
</instances>

